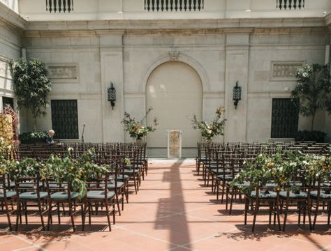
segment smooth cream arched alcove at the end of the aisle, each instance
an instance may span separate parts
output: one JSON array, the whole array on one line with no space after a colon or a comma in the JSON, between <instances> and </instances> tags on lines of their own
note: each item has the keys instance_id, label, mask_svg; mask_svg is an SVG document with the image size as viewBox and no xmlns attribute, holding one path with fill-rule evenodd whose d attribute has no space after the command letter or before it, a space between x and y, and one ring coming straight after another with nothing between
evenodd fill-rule
<instances>
[{"instance_id":1,"label":"smooth cream arched alcove at the end of the aisle","mask_svg":"<svg viewBox=\"0 0 331 251\"><path fill-rule=\"evenodd\" d=\"M183 132L183 155L195 154L196 142L201 137L200 132L193 130L191 119L196 114L200 120L203 114L203 86L195 69L180 61L168 61L156 67L147 79L146 106L154 108L147 123L152 123L154 117L160 123L147 137L151 155L166 155L166 131L172 129Z\"/></svg>"}]
</instances>

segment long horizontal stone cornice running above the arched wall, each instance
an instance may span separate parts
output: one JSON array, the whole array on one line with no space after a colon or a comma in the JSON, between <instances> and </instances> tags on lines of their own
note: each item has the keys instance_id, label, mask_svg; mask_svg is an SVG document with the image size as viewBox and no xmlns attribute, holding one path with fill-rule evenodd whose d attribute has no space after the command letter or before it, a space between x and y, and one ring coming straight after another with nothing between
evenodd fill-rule
<instances>
[{"instance_id":1,"label":"long horizontal stone cornice running above the arched wall","mask_svg":"<svg viewBox=\"0 0 331 251\"><path fill-rule=\"evenodd\" d=\"M223 29L223 28L325 27L324 17L244 18L208 20L96 20L34 21L27 30L102 30L102 29Z\"/></svg>"}]
</instances>

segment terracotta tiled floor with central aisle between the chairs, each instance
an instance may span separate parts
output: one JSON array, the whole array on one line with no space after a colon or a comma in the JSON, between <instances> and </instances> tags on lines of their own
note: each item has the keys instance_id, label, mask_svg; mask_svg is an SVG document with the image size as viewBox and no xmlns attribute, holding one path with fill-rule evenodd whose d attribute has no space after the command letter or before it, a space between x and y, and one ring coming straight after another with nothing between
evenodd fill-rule
<instances>
[{"instance_id":1,"label":"terracotta tiled floor with central aisle between the chairs","mask_svg":"<svg viewBox=\"0 0 331 251\"><path fill-rule=\"evenodd\" d=\"M258 215L252 234L251 225L243 224L244 207L237 204L228 215L194 169L193 160L152 160L138 195L130 195L111 232L104 230L102 215L84 232L79 226L73 233L68 217L54 231L40 231L36 216L22 225L24 231L8 232L1 215L0 250L331 250L331 229L321 225L325 216L311 233L308 226L298 229L293 215L283 233L268 229L268 216ZM75 222L80 225L80 218Z\"/></svg>"}]
</instances>

